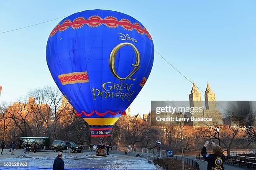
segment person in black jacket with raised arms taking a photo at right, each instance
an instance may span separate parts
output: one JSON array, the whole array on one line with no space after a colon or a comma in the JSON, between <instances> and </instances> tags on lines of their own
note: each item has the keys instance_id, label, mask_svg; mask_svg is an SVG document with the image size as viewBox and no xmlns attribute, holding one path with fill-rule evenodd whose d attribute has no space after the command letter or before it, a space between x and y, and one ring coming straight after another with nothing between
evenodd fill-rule
<instances>
[{"instance_id":1,"label":"person in black jacket with raised arms taking a photo at right","mask_svg":"<svg viewBox=\"0 0 256 170\"><path fill-rule=\"evenodd\" d=\"M207 154L206 147L208 145L213 145L212 154ZM225 161L225 156L219 145L215 145L213 142L205 142L204 147L201 152L202 156L208 162L207 170L224 170L223 163Z\"/></svg>"}]
</instances>

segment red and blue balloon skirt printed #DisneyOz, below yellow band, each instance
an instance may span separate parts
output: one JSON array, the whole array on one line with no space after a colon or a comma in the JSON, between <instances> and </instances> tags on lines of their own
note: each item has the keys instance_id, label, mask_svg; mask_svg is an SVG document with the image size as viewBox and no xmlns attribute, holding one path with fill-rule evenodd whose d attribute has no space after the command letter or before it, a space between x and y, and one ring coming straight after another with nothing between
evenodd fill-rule
<instances>
[{"instance_id":1,"label":"red and blue balloon skirt printed #DisneyOz, below yellow band","mask_svg":"<svg viewBox=\"0 0 256 170\"><path fill-rule=\"evenodd\" d=\"M108 137L112 129L113 126L90 126L91 137Z\"/></svg>"}]
</instances>

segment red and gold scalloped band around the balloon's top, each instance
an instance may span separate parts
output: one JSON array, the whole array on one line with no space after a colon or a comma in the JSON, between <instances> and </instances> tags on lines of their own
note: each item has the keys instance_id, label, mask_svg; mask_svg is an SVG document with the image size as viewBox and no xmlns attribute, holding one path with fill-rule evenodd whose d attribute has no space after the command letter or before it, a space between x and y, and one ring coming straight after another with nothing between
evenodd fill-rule
<instances>
[{"instance_id":1,"label":"red and gold scalloped band around the balloon's top","mask_svg":"<svg viewBox=\"0 0 256 170\"><path fill-rule=\"evenodd\" d=\"M54 36L57 31L61 32L66 30L67 28L71 27L72 29L78 29L81 28L84 25L87 25L89 27L98 27L100 25L104 24L108 28L117 28L118 26L121 26L125 30L136 30L137 33L140 34L146 34L146 36L152 40L152 37L148 33L147 29L144 27L142 28L139 23L131 23L130 20L127 19L121 19L118 20L115 17L109 16L104 19L100 18L99 16L91 16L88 19L85 19L84 17L78 17L71 20L65 20L61 25L58 24L56 27L51 31L50 36ZM49 36L49 37L50 37Z\"/></svg>"}]
</instances>

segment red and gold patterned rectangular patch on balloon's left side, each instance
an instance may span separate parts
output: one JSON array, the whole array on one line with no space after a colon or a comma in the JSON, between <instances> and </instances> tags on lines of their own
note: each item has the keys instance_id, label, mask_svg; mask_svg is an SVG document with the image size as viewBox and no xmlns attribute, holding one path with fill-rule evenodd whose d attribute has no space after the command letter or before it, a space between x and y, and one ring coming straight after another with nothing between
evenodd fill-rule
<instances>
[{"instance_id":1,"label":"red and gold patterned rectangular patch on balloon's left side","mask_svg":"<svg viewBox=\"0 0 256 170\"><path fill-rule=\"evenodd\" d=\"M58 77L62 85L89 82L87 71L61 74Z\"/></svg>"}]
</instances>

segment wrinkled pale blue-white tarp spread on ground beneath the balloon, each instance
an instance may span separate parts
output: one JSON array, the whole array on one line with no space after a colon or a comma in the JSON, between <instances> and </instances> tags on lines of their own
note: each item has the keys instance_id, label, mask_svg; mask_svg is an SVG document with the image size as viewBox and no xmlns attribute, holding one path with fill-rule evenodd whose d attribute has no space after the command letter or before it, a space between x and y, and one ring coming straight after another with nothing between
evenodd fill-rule
<instances>
[{"instance_id":1,"label":"wrinkled pale blue-white tarp spread on ground beneath the balloon","mask_svg":"<svg viewBox=\"0 0 256 170\"><path fill-rule=\"evenodd\" d=\"M1 162L29 162L29 167L25 169L43 170L50 169L54 162L54 157L31 157L30 155L22 154L14 158L0 159ZM68 170L91 170L91 169L133 169L133 170L156 170L153 163L148 163L145 159L118 159L116 156L109 155L108 157L97 157L89 155L65 155L64 157L65 169ZM3 169L4 168L4 169ZM7 170L9 168L0 167L0 170ZM13 170L23 170L23 168L13 168Z\"/></svg>"}]
</instances>

